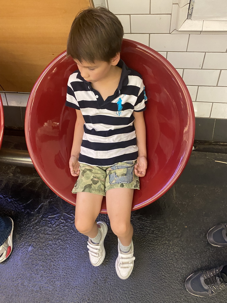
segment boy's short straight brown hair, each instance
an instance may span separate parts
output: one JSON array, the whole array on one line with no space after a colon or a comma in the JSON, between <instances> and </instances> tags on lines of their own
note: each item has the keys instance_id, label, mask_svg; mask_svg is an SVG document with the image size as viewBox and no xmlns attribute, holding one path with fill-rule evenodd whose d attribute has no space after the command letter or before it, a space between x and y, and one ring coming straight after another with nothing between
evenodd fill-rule
<instances>
[{"instance_id":1,"label":"boy's short straight brown hair","mask_svg":"<svg viewBox=\"0 0 227 303\"><path fill-rule=\"evenodd\" d=\"M88 8L74 19L67 41L67 55L94 63L110 62L121 50L123 27L107 8Z\"/></svg>"}]
</instances>

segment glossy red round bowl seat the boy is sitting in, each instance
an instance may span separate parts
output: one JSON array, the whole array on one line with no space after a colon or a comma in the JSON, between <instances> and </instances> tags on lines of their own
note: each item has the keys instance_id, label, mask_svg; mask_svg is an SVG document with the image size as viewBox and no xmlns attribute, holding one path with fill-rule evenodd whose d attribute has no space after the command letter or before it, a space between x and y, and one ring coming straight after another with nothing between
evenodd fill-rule
<instances>
[{"instance_id":1,"label":"glossy red round bowl seat the boy is sitting in","mask_svg":"<svg viewBox=\"0 0 227 303\"><path fill-rule=\"evenodd\" d=\"M139 72L148 97L144 112L148 169L134 191L133 210L160 198L182 173L192 151L195 116L192 101L175 68L153 49L124 39L121 58ZM32 162L44 182L75 205L76 181L68 167L76 113L66 107L67 80L77 65L61 53L32 89L25 115L25 135ZM105 198L102 213L106 213Z\"/></svg>"}]
</instances>

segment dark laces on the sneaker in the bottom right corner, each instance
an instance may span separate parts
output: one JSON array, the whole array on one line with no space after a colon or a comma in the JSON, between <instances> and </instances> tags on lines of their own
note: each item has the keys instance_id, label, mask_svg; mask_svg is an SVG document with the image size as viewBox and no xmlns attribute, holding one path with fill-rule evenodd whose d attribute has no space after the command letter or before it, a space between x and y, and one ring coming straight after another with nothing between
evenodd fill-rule
<instances>
[{"instance_id":1,"label":"dark laces on the sneaker in the bottom right corner","mask_svg":"<svg viewBox=\"0 0 227 303\"><path fill-rule=\"evenodd\" d=\"M209 288L212 288L211 291L216 292L222 288L226 287L226 283L223 281L220 268L215 268L212 270L205 271L203 273L204 282Z\"/></svg>"}]
</instances>

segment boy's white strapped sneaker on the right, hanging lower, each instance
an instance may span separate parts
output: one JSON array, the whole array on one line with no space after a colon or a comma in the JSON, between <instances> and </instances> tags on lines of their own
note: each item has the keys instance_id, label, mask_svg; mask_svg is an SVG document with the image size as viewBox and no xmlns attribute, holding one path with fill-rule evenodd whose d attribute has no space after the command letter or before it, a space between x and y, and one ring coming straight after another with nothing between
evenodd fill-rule
<instances>
[{"instance_id":1,"label":"boy's white strapped sneaker on the right, hanging lower","mask_svg":"<svg viewBox=\"0 0 227 303\"><path fill-rule=\"evenodd\" d=\"M127 279L131 275L135 260L133 252L133 241L129 252L121 252L120 241L118 239L118 257L115 263L115 268L120 279Z\"/></svg>"}]
</instances>

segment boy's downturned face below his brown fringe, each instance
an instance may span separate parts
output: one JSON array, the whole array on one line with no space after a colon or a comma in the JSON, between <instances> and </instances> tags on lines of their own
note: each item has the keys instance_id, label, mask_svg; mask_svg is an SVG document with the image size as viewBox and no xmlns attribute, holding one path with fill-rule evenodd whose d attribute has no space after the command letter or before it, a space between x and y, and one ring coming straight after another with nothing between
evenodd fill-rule
<instances>
[{"instance_id":1,"label":"boy's downturned face below his brown fringe","mask_svg":"<svg viewBox=\"0 0 227 303\"><path fill-rule=\"evenodd\" d=\"M115 62L111 60L110 62L105 61L95 61L94 63L74 59L81 76L84 80L94 83L104 80L108 77L110 73L111 66L116 65Z\"/></svg>"}]
</instances>

